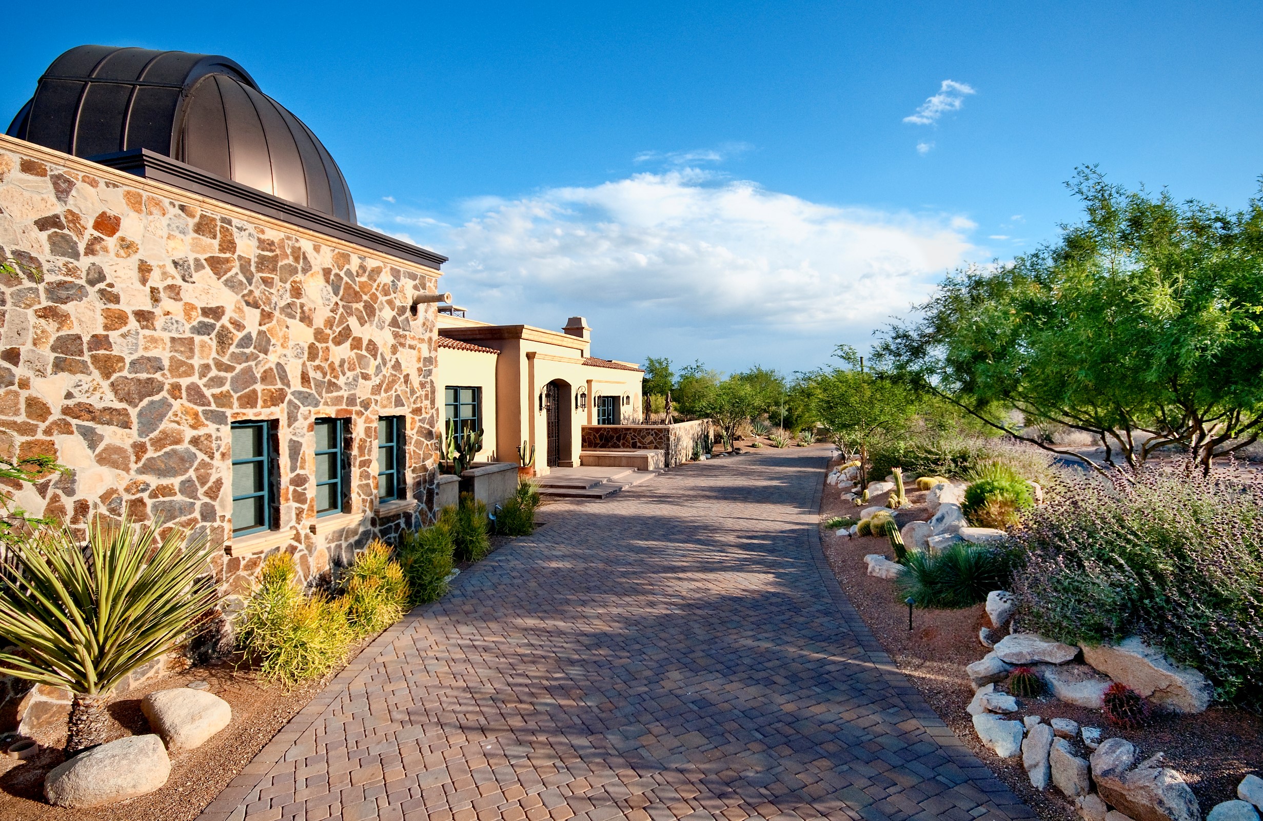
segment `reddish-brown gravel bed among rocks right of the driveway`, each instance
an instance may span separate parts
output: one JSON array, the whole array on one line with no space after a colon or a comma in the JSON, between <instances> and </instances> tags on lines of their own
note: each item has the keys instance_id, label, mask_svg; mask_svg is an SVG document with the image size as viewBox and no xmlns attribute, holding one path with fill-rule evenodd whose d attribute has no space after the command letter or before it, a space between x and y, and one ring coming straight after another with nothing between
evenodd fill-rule
<instances>
[{"instance_id":1,"label":"reddish-brown gravel bed among rocks right of the driveway","mask_svg":"<svg viewBox=\"0 0 1263 821\"><path fill-rule=\"evenodd\" d=\"M925 493L911 493L914 518L928 519ZM860 508L842 501L836 488L825 485L821 499L821 543L830 567L860 616L885 647L931 707L942 717L974 753L1026 801L1045 821L1077 818L1074 805L1058 789L1038 792L1031 787L1021 757L1002 759L984 746L974 733L965 706L974 690L965 674L965 664L986 654L978 640L978 630L986 621L983 605L965 610L914 610L913 630L908 630L908 609L899 599L894 584L866 573L864 556L890 556L884 538L850 538L835 536L823 522L835 515L859 515ZM883 504L878 496L873 504ZM1003 635L1003 632L998 632ZM997 690L1003 690L998 685ZM1166 753L1167 764L1178 769L1209 812L1220 801L1235 798L1236 784L1247 773L1263 774L1263 717L1231 709L1211 709L1197 716L1158 716L1142 730L1110 728L1100 710L1087 710L1062 704L1051 697L1019 700L1018 715L1037 714L1046 721L1067 717L1103 729L1104 738L1123 736L1135 744L1142 758ZM1081 754L1086 755L1084 750Z\"/></svg>"}]
</instances>

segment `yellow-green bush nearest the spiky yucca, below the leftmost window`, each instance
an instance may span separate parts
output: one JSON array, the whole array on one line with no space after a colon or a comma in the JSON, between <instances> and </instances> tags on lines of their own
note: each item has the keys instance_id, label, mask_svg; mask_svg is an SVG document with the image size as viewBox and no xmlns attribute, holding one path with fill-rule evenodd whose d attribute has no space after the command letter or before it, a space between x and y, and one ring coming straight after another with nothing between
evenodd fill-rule
<instances>
[{"instance_id":1,"label":"yellow-green bush nearest the spiky yucca, below the leftmost window","mask_svg":"<svg viewBox=\"0 0 1263 821\"><path fill-rule=\"evenodd\" d=\"M354 639L345 600L304 596L294 560L275 553L236 621L237 647L270 681L290 686L318 678L342 663Z\"/></svg>"}]
</instances>

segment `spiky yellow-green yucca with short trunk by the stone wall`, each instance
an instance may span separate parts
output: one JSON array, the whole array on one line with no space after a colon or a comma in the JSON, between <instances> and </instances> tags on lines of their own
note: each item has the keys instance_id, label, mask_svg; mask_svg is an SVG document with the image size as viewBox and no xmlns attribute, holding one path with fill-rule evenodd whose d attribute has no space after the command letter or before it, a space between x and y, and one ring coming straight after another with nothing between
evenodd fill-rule
<instances>
[{"instance_id":1,"label":"spiky yellow-green yucca with short trunk by the stone wall","mask_svg":"<svg viewBox=\"0 0 1263 821\"><path fill-rule=\"evenodd\" d=\"M174 649L220 599L205 537L97 517L87 546L44 528L0 566L0 673L73 693L67 755L105 740L105 700Z\"/></svg>"}]
</instances>

